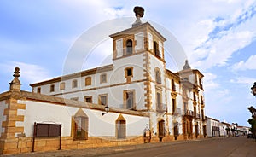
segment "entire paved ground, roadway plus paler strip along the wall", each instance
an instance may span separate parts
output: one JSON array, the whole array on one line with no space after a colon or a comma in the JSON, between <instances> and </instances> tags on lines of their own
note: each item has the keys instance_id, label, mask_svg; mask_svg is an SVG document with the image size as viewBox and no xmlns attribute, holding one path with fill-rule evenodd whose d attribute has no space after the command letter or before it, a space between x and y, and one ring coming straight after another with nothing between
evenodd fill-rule
<instances>
[{"instance_id":1,"label":"entire paved ground, roadway plus paler strip along the wall","mask_svg":"<svg viewBox=\"0 0 256 157\"><path fill-rule=\"evenodd\" d=\"M3 155L10 156L10 155ZM60 150L47 153L11 155L16 157L256 157L256 142L247 137L213 138L207 140L147 143L113 148Z\"/></svg>"}]
</instances>

